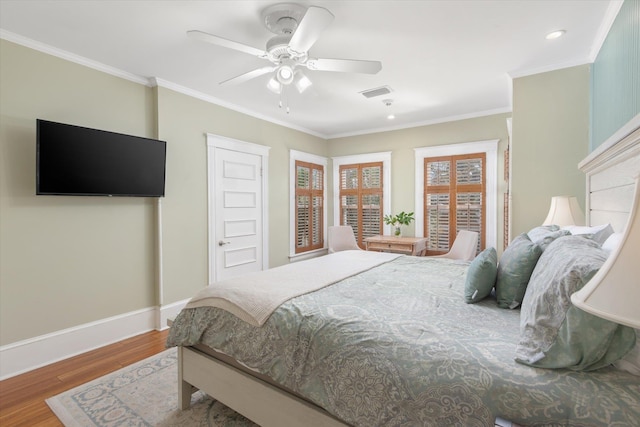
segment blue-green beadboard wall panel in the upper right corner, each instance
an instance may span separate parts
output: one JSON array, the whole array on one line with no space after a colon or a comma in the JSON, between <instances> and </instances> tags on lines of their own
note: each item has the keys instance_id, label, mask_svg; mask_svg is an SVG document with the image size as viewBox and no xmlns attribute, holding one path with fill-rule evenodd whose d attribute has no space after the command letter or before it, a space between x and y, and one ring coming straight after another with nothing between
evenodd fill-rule
<instances>
[{"instance_id":1,"label":"blue-green beadboard wall panel in the upper right corner","mask_svg":"<svg viewBox=\"0 0 640 427\"><path fill-rule=\"evenodd\" d=\"M591 75L591 150L640 114L640 0L626 0Z\"/></svg>"}]
</instances>

